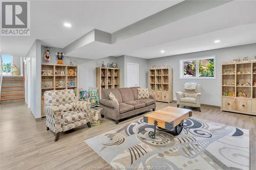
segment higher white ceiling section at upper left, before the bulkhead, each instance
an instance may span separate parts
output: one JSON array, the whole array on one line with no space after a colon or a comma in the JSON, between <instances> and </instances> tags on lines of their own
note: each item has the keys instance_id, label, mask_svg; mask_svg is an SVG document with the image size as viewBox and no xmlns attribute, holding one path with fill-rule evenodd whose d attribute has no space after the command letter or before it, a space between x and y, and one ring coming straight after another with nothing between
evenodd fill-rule
<instances>
[{"instance_id":1,"label":"higher white ceiling section at upper left, before the bulkhead","mask_svg":"<svg viewBox=\"0 0 256 170\"><path fill-rule=\"evenodd\" d=\"M30 36L2 36L1 53L24 57L35 39L63 48L93 29L113 33L181 1L31 1ZM72 28L63 27L70 22Z\"/></svg>"}]
</instances>

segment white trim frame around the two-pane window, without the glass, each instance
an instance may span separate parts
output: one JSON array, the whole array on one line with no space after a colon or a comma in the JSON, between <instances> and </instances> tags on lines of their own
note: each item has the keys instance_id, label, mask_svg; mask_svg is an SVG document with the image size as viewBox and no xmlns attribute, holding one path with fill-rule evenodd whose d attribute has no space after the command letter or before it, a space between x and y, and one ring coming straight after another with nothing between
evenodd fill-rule
<instances>
[{"instance_id":1,"label":"white trim frame around the two-pane window, without the glass","mask_svg":"<svg viewBox=\"0 0 256 170\"><path fill-rule=\"evenodd\" d=\"M214 58L214 77L199 77L199 60L200 59L209 59ZM183 62L184 61L193 61L196 60L196 77L184 77L183 75ZM189 59L180 59L180 79L216 79L216 59L215 56L206 56L206 57L197 57L197 58L189 58Z\"/></svg>"}]
</instances>

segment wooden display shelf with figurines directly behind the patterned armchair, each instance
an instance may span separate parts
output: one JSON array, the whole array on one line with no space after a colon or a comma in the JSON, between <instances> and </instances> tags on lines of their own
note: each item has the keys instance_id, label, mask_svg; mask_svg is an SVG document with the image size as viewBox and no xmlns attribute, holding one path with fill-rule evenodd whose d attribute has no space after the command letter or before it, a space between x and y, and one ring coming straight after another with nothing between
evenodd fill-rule
<instances>
[{"instance_id":1,"label":"wooden display shelf with figurines directly behind the patterned armchair","mask_svg":"<svg viewBox=\"0 0 256 170\"><path fill-rule=\"evenodd\" d=\"M70 70L72 69L72 70ZM78 96L77 65L41 64L41 117L45 117L44 92L48 90L73 89Z\"/></svg>"}]
</instances>

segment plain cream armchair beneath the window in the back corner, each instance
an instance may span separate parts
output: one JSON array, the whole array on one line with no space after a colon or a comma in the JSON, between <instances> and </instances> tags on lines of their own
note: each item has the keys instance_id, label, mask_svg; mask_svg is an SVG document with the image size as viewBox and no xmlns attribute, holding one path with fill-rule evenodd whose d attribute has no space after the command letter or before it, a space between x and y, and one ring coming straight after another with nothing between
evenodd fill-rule
<instances>
[{"instance_id":1,"label":"plain cream armchair beneath the window in the back corner","mask_svg":"<svg viewBox=\"0 0 256 170\"><path fill-rule=\"evenodd\" d=\"M197 107L199 111L201 102L201 85L197 83L185 83L184 90L176 92L177 107L180 105Z\"/></svg>"}]
</instances>

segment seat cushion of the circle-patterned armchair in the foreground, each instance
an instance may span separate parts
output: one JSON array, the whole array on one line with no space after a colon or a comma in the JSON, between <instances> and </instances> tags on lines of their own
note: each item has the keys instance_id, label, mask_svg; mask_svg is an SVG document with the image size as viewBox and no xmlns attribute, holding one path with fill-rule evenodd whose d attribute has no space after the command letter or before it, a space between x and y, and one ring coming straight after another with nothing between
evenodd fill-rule
<instances>
[{"instance_id":1,"label":"seat cushion of the circle-patterned armchair in the foreground","mask_svg":"<svg viewBox=\"0 0 256 170\"><path fill-rule=\"evenodd\" d=\"M62 116L63 116L62 124L68 125L76 121L86 119L89 116L89 114L85 112L79 112L79 111L69 111L69 112L63 112Z\"/></svg>"}]
</instances>

